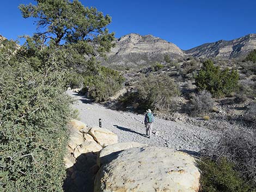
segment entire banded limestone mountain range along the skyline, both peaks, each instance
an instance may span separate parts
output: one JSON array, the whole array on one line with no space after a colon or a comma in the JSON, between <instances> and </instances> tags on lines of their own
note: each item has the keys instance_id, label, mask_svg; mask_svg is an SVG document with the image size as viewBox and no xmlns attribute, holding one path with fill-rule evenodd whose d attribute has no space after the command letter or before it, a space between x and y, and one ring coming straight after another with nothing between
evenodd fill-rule
<instances>
[{"instance_id":1,"label":"entire banded limestone mountain range along the skyline, both peaks","mask_svg":"<svg viewBox=\"0 0 256 192\"><path fill-rule=\"evenodd\" d=\"M107 66L149 66L170 59L196 58L243 58L256 49L256 34L249 34L231 41L220 40L189 50L181 50L171 42L153 35L128 34L115 40L115 47L108 53Z\"/></svg>"}]
</instances>

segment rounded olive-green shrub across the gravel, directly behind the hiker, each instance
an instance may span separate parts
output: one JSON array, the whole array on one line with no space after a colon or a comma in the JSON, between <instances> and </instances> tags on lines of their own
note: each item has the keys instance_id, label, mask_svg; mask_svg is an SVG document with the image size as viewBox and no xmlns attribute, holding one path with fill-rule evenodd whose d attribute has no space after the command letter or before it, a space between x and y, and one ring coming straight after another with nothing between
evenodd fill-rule
<instances>
[{"instance_id":1,"label":"rounded olive-green shrub across the gravel, directly behind the hiker","mask_svg":"<svg viewBox=\"0 0 256 192\"><path fill-rule=\"evenodd\" d=\"M143 77L136 85L130 101L138 103L138 108L153 109L159 112L174 110L174 97L180 95L180 90L174 80L167 75Z\"/></svg>"}]
</instances>

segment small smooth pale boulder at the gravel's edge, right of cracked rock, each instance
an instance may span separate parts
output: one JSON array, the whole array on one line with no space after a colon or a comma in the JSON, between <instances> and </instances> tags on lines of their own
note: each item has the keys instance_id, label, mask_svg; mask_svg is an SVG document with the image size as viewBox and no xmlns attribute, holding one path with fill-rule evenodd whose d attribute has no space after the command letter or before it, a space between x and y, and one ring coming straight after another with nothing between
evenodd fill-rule
<instances>
[{"instance_id":1,"label":"small smooth pale boulder at the gravel's edge, right of cracked rock","mask_svg":"<svg viewBox=\"0 0 256 192\"><path fill-rule=\"evenodd\" d=\"M105 128L92 127L88 133L92 135L94 140L102 147L118 142L117 135Z\"/></svg>"}]
</instances>

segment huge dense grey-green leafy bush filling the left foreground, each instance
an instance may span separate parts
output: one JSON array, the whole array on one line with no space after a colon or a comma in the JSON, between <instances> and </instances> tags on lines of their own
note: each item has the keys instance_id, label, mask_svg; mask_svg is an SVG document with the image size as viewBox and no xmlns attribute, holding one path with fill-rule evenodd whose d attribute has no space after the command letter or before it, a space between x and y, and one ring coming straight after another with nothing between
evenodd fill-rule
<instances>
[{"instance_id":1,"label":"huge dense grey-green leafy bush filling the left foreground","mask_svg":"<svg viewBox=\"0 0 256 192\"><path fill-rule=\"evenodd\" d=\"M62 191L69 97L65 71L0 65L0 191Z\"/></svg>"}]
</instances>

